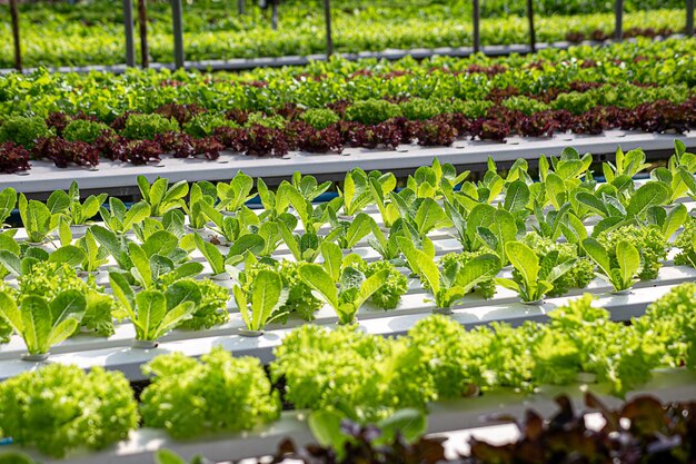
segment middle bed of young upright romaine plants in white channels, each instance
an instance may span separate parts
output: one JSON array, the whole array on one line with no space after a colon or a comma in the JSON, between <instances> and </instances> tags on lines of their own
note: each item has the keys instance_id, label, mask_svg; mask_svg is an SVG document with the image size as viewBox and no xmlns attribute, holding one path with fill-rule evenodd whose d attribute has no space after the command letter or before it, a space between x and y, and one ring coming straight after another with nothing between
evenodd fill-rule
<instances>
[{"instance_id":1,"label":"middle bed of young upright romaine plants in white channels","mask_svg":"<svg viewBox=\"0 0 696 464\"><path fill-rule=\"evenodd\" d=\"M673 248L674 264L695 266L696 221L678 201L696 196L696 156L684 144L640 184L633 178L649 167L640 150L618 150L601 184L589 154L539 162L535 182L525 160L507 172L489 161L479 180L435 160L400 189L392 174L355 169L318 205L331 182L299 172L275 191L258 179L256 192L241 172L217 186L140 177L143 199L130 208L106 195L82 201L76 185L46 204L6 189L0 218L19 205L26 236L0 234L0 334L19 334L40 355L73 334L112 335L115 319L130 319L137 340L157 342L177 327L222 324L229 307L257 332L311 320L325 306L350 324L366 304L396 308L409 273L420 279L415 292L447 313L497 286L526 303L596 276L625 292L656 279ZM257 195L262 211L246 206ZM98 214L103 221L91 224ZM435 236L455 237L453 253L439 256ZM97 285L107 274L113 296ZM232 287L233 305L216 282Z\"/></svg>"}]
</instances>

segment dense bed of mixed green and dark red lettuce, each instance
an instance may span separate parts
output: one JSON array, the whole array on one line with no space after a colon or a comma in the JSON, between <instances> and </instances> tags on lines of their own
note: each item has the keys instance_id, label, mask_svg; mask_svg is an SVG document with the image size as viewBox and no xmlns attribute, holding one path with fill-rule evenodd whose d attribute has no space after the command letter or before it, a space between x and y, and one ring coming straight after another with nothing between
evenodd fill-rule
<instances>
[{"instance_id":1,"label":"dense bed of mixed green and dark red lettuce","mask_svg":"<svg viewBox=\"0 0 696 464\"><path fill-rule=\"evenodd\" d=\"M696 126L694 41L548 52L541 59L349 65L243 77L128 73L0 79L0 171L163 154L217 159L346 147L449 146L607 129ZM560 62L559 62L560 60ZM261 79L261 80L257 80Z\"/></svg>"}]
</instances>

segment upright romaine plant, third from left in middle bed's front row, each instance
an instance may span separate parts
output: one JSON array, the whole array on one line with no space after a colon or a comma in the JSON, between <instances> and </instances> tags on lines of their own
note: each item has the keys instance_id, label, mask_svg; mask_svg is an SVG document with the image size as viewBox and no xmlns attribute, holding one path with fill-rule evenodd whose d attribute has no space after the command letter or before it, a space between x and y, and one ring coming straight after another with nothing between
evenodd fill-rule
<instances>
[{"instance_id":1,"label":"upright romaine plant, third from left in middle bed's front row","mask_svg":"<svg viewBox=\"0 0 696 464\"><path fill-rule=\"evenodd\" d=\"M240 286L232 287L235 302L249 330L262 330L268 324L287 315L278 312L289 295L288 289L284 288L280 274L259 270L250 283L250 295L247 296Z\"/></svg>"}]
</instances>

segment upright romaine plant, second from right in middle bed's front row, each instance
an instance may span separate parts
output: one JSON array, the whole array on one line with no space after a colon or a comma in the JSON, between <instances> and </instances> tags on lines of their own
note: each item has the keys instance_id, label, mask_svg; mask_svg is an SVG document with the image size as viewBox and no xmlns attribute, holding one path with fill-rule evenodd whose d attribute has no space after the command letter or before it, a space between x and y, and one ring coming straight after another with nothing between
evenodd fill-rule
<instances>
[{"instance_id":1,"label":"upright romaine plant, second from right in middle bed's front row","mask_svg":"<svg viewBox=\"0 0 696 464\"><path fill-rule=\"evenodd\" d=\"M517 292L525 303L535 303L554 289L554 283L575 265L575 259L559 258L554 250L539 258L531 248L521 241L505 245L508 259L515 267L513 278L497 278L496 282Z\"/></svg>"}]
</instances>

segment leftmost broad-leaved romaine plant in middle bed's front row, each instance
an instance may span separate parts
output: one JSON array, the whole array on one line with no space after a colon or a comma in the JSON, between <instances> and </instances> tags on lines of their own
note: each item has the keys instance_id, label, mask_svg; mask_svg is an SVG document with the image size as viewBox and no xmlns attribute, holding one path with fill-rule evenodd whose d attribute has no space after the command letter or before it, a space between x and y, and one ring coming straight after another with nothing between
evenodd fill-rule
<instances>
[{"instance_id":1,"label":"leftmost broad-leaved romaine plant in middle bed's front row","mask_svg":"<svg viewBox=\"0 0 696 464\"><path fill-rule=\"evenodd\" d=\"M72 335L86 309L84 296L78 290L62 292L50 300L26 295L19 307L7 292L0 293L0 316L22 337L30 355L47 354Z\"/></svg>"}]
</instances>

